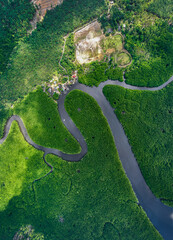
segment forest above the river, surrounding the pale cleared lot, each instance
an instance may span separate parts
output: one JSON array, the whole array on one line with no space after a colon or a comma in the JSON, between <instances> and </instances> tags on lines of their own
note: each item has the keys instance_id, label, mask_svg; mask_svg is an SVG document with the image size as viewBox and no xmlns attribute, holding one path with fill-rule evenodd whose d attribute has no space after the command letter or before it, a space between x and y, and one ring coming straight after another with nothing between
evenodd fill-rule
<instances>
[{"instance_id":1,"label":"forest above the river, surrounding the pale cleared lot","mask_svg":"<svg viewBox=\"0 0 173 240\"><path fill-rule=\"evenodd\" d=\"M106 35L109 35L107 30L111 28L113 34L118 30L124 36L124 47L132 56L132 64L125 69L128 83L158 86L166 81L173 73L172 4L170 0L164 1L164 8L170 14L162 18L159 11L165 11L164 8L158 8L157 2L161 4L162 0L117 0L107 18L108 5L104 0L64 1L62 5L48 11L43 22L37 24L37 29L27 35L29 21L35 13L31 2L1 1L1 116L8 116L14 101L50 79L55 72L63 71L59 66L63 37L96 17ZM73 39L67 39L61 61L69 74L75 69L72 45ZM122 81L123 68L121 70L112 66L111 61L91 63L91 71L87 76L79 67L80 79L83 79L81 82L97 85L107 78ZM102 66L106 70L105 76Z\"/></svg>"}]
</instances>

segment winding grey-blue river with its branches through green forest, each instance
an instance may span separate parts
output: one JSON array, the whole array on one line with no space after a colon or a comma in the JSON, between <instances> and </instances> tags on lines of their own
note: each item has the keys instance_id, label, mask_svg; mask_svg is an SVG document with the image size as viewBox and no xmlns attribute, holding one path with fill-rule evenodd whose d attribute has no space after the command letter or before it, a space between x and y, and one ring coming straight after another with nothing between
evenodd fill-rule
<instances>
[{"instance_id":1,"label":"winding grey-blue river with its branches through green forest","mask_svg":"<svg viewBox=\"0 0 173 240\"><path fill-rule=\"evenodd\" d=\"M11 123L14 120L16 120L20 126L21 132L25 140L36 149L42 150L44 152L44 156L46 154L51 153L59 157L62 157L64 160L67 160L67 161L79 161L87 153L87 145L79 129L75 126L75 124L69 117L68 113L66 112L64 107L64 101L65 101L66 95L74 89L79 89L83 92L88 93L97 101L97 103L102 109L104 116L106 117L109 123L109 126L111 128L111 131L114 137L114 141L116 144L116 148L118 150L119 158L122 162L126 175L132 184L133 190L139 200L139 204L143 207L149 219L151 220L153 225L156 227L156 229L160 232L160 234L163 236L163 238L166 240L172 240L173 239L173 208L164 205L159 199L157 199L153 195L153 193L147 186L141 174L137 161L134 157L134 154L131 150L131 147L129 145L129 142L125 135L123 127L120 124L119 120L117 119L116 115L114 114L114 109L110 106L109 102L106 100L106 98L102 93L103 87L108 84L118 85L118 86L121 86L127 89L132 89L132 90L157 91L157 90L163 89L172 81L173 81L173 76L166 83L162 84L159 87L154 87L154 88L136 87L136 86L128 85L125 82L111 81L111 80L101 83L98 87L88 87L80 83L76 83L75 85L71 86L69 91L65 92L60 96L58 100L58 109L59 109L62 122L81 145L82 150L79 154L65 154L57 149L46 148L34 143L30 139L20 117L15 115L12 116L7 121L5 130L4 130L4 137L0 140L0 144L2 144L4 140L7 138Z\"/></svg>"}]
</instances>

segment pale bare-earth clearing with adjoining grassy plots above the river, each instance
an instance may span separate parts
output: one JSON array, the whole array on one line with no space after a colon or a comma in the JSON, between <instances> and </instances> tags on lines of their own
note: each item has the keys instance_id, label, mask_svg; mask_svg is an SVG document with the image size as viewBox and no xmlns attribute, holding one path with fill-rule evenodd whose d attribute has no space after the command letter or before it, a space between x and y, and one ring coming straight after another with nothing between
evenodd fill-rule
<instances>
[{"instance_id":1,"label":"pale bare-earth clearing with adjoining grassy plots above the river","mask_svg":"<svg viewBox=\"0 0 173 240\"><path fill-rule=\"evenodd\" d=\"M94 21L74 34L76 60L79 64L101 61L104 56L112 58L114 64L126 67L131 63L131 56L124 49L121 33L106 37L98 21Z\"/></svg>"}]
</instances>

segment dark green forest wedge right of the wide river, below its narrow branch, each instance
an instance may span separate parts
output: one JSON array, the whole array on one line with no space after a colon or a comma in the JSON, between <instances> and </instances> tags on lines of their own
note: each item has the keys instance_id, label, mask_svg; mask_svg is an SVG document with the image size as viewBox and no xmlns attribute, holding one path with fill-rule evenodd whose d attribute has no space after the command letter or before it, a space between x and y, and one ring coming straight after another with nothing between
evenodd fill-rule
<instances>
[{"instance_id":1,"label":"dark green forest wedge right of the wide river, below its narrow branch","mask_svg":"<svg viewBox=\"0 0 173 240\"><path fill-rule=\"evenodd\" d=\"M106 86L103 93L123 125L154 195L173 206L173 84L157 92Z\"/></svg>"}]
</instances>

